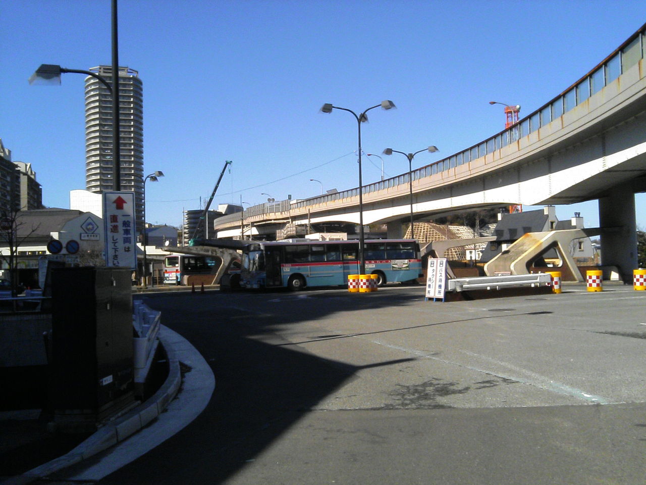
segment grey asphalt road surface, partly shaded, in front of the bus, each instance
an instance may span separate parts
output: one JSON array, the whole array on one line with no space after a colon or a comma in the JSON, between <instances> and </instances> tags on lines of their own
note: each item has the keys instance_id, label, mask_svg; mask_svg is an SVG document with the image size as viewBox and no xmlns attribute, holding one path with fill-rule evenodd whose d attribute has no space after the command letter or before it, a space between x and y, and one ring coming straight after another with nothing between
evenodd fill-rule
<instances>
[{"instance_id":1,"label":"grey asphalt road surface, partly shaded, in front of the bus","mask_svg":"<svg viewBox=\"0 0 646 485\"><path fill-rule=\"evenodd\" d=\"M646 292L147 294L202 415L100 484L646 483Z\"/></svg>"}]
</instances>

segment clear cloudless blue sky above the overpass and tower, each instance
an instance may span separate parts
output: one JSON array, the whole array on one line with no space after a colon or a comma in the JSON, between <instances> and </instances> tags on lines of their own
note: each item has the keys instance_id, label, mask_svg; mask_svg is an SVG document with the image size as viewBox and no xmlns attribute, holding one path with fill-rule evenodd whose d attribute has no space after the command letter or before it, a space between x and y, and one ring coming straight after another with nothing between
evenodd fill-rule
<instances>
[{"instance_id":1,"label":"clear cloudless blue sky above the overpass and tower","mask_svg":"<svg viewBox=\"0 0 646 485\"><path fill-rule=\"evenodd\" d=\"M41 63L110 65L109 0L3 3L0 138L30 162L46 206L68 208L85 188L83 76L30 86ZM120 64L138 70L144 95L147 221L179 225L200 208L225 160L214 200L256 204L357 186L356 122L319 113L334 103L370 112L367 153L417 151L422 166L504 127L501 105L521 116L566 89L646 21L643 0L120 0ZM408 170L384 156L386 176ZM364 183L380 160L364 158ZM559 206L598 224L596 201ZM637 196L646 228L646 198Z\"/></svg>"}]
</instances>

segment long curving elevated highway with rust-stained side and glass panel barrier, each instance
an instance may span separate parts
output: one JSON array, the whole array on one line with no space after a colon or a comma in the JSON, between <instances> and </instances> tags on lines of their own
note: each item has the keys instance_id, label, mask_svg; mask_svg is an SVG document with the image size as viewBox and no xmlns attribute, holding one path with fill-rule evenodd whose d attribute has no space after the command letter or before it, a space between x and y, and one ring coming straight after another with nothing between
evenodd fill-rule
<instances>
[{"instance_id":1,"label":"long curving elevated highway with rust-stained side and glass panel barrier","mask_svg":"<svg viewBox=\"0 0 646 485\"><path fill-rule=\"evenodd\" d=\"M413 213L441 217L510 204L599 200L605 264L636 268L634 193L646 191L646 25L534 113L459 153L366 185L364 224L400 237ZM359 223L359 188L260 204L218 219L218 237L275 232L287 224Z\"/></svg>"}]
</instances>

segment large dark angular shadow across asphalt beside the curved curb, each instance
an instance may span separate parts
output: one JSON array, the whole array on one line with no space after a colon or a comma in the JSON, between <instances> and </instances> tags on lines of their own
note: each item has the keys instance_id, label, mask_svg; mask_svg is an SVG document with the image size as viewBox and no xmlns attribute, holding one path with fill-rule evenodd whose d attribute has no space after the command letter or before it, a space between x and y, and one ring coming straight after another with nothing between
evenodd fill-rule
<instances>
[{"instance_id":1,"label":"large dark angular shadow across asphalt beside the curved curb","mask_svg":"<svg viewBox=\"0 0 646 485\"><path fill-rule=\"evenodd\" d=\"M248 295L247 295L248 296ZM221 298L227 298L222 305ZM182 334L211 365L216 379L213 398L202 415L151 453L112 473L101 484L220 483L253 460L273 440L323 398L351 378L357 368L315 357L302 349L264 343L275 325L298 323L271 307L270 300L291 305L290 315L315 319L331 312L352 312L365 305L405 305L410 294L357 299L342 294L205 294L147 299L161 310L164 324ZM393 298L395 301L393 301ZM240 307L236 308L236 300ZM320 305L313 301L320 299ZM233 301L232 301L233 300ZM257 307L244 307L253 305ZM261 305L268 305L269 308ZM249 311L245 308L250 308ZM273 311L271 310L273 308ZM349 316L351 318L351 316ZM390 365L393 362L374 363Z\"/></svg>"}]
</instances>

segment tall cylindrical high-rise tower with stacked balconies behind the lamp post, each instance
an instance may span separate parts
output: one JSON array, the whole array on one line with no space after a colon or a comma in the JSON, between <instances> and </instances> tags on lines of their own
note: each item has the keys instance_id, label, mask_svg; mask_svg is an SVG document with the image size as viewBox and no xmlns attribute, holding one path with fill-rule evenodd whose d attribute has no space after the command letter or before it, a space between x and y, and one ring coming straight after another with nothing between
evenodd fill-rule
<instances>
[{"instance_id":1,"label":"tall cylindrical high-rise tower with stacked balconies behind the lamp post","mask_svg":"<svg viewBox=\"0 0 646 485\"><path fill-rule=\"evenodd\" d=\"M112 85L112 66L92 67ZM143 228L143 87L136 70L119 68L121 190L134 191L137 230ZM85 78L85 188L114 189L112 97L101 81Z\"/></svg>"}]
</instances>

